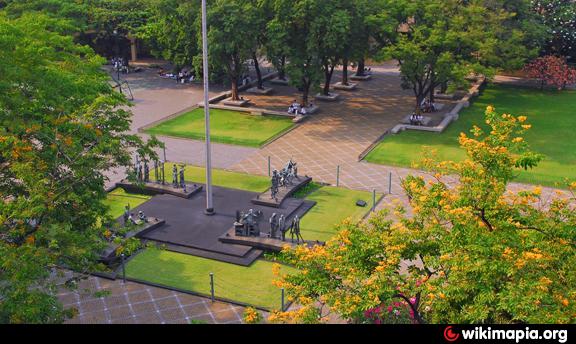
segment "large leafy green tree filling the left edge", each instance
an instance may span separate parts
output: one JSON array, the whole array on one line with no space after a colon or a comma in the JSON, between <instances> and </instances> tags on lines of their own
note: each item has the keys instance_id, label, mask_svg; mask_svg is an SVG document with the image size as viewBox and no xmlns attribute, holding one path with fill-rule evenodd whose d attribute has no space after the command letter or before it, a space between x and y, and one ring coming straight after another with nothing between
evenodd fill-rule
<instances>
[{"instance_id":1,"label":"large leafy green tree filling the left edge","mask_svg":"<svg viewBox=\"0 0 576 344\"><path fill-rule=\"evenodd\" d=\"M130 112L69 23L0 14L0 322L57 323L57 267L94 271L109 219L105 172L130 165ZM52 276L53 277L53 276Z\"/></svg>"}]
</instances>

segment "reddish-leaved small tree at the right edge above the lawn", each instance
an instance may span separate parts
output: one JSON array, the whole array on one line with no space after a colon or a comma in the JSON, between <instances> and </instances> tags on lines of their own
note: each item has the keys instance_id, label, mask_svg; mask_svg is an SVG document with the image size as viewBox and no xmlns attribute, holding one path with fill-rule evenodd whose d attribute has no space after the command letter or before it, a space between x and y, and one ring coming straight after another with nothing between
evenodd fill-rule
<instances>
[{"instance_id":1,"label":"reddish-leaved small tree at the right edge above the lawn","mask_svg":"<svg viewBox=\"0 0 576 344\"><path fill-rule=\"evenodd\" d=\"M553 85L563 90L566 85L576 83L576 68L568 66L566 60L557 56L544 56L531 61L524 67L528 77L540 80L544 85Z\"/></svg>"}]
</instances>

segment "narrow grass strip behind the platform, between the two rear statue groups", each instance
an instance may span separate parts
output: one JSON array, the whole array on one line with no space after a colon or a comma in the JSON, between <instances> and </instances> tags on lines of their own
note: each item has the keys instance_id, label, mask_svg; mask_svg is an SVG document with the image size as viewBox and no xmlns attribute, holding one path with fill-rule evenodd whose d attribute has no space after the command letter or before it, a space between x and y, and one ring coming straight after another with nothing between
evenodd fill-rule
<instances>
[{"instance_id":1,"label":"narrow grass strip behind the platform, between the two rear statue groups","mask_svg":"<svg viewBox=\"0 0 576 344\"><path fill-rule=\"evenodd\" d=\"M180 169L180 164L178 169ZM204 167L187 165L185 178L189 182L205 183L206 169ZM172 181L172 163L166 164L166 182ZM246 190L252 192L264 192L270 187L270 178L254 176L245 173L231 172L225 170L212 169L212 183L230 189Z\"/></svg>"}]
</instances>

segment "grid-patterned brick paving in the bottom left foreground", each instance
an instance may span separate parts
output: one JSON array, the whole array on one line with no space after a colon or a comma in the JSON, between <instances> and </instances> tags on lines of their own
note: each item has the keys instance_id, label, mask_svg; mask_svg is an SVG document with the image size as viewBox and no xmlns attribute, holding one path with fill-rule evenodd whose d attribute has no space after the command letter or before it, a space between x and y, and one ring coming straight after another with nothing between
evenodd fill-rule
<instances>
[{"instance_id":1,"label":"grid-patterned brick paving in the bottom left foreground","mask_svg":"<svg viewBox=\"0 0 576 344\"><path fill-rule=\"evenodd\" d=\"M68 324L240 324L244 312L229 303L99 277L82 280L75 291L61 288L58 298L78 311Z\"/></svg>"}]
</instances>

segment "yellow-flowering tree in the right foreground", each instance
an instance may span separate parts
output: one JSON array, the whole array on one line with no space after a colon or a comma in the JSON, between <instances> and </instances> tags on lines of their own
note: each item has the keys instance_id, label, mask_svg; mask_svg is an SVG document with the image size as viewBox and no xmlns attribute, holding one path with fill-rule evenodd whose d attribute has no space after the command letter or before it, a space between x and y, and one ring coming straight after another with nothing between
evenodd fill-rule
<instances>
[{"instance_id":1,"label":"yellow-flowering tree in the right foreground","mask_svg":"<svg viewBox=\"0 0 576 344\"><path fill-rule=\"evenodd\" d=\"M326 246L285 251L301 273L279 281L302 310L284 322L573 323L576 183L544 198L511 192L541 160L522 135L527 118L489 107L490 131L461 134L461 162L424 159L430 177L403 181L411 212L346 222ZM304 301L304 302L301 302ZM304 317L308 315L308 318Z\"/></svg>"}]
</instances>

